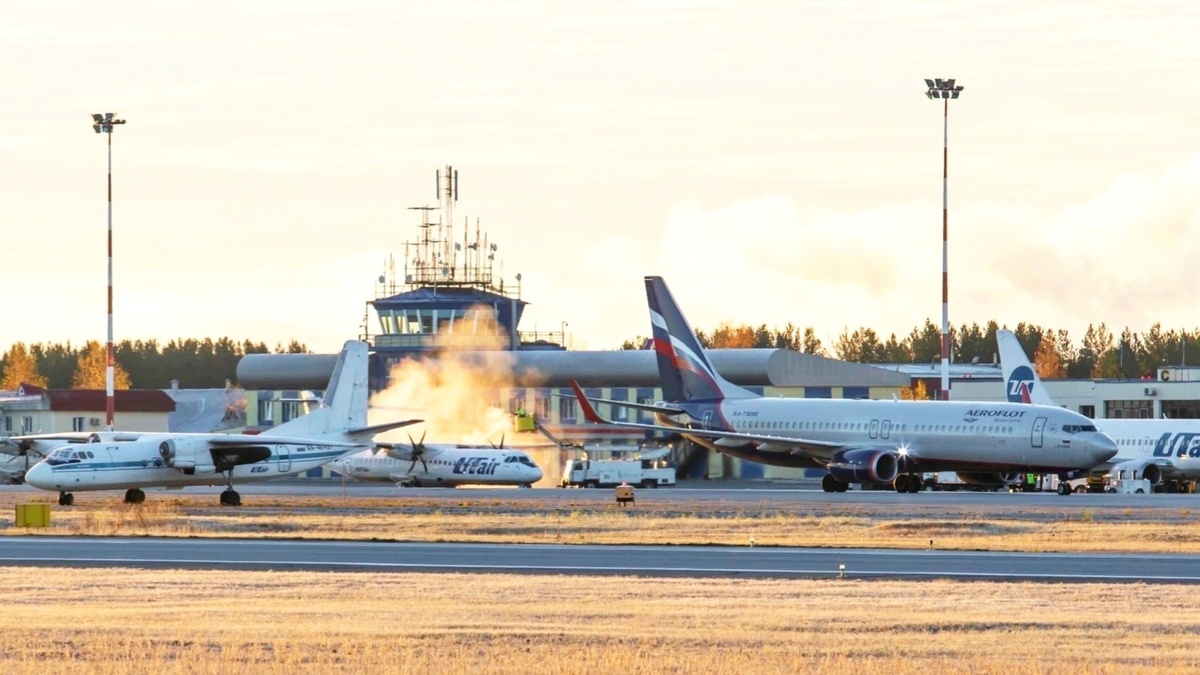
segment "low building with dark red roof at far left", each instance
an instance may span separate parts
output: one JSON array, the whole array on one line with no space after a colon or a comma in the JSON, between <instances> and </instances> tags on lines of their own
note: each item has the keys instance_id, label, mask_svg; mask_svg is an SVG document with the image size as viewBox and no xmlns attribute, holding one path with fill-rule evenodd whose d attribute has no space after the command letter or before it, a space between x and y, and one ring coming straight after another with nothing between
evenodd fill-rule
<instances>
[{"instance_id":1,"label":"low building with dark red roof at far left","mask_svg":"<svg viewBox=\"0 0 1200 675\"><path fill-rule=\"evenodd\" d=\"M107 394L103 389L43 389L22 384L16 395L0 395L0 435L101 431ZM160 389L114 392L119 431L168 431L175 401Z\"/></svg>"}]
</instances>

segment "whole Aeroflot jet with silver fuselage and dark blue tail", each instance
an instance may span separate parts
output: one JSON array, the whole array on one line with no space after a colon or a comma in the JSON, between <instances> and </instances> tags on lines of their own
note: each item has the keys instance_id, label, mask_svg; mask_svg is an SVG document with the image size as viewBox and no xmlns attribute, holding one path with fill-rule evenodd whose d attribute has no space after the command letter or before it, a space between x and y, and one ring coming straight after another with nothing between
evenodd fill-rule
<instances>
[{"instance_id":1,"label":"whole Aeroflot jet with silver fuselage and dark blue tail","mask_svg":"<svg viewBox=\"0 0 1200 675\"><path fill-rule=\"evenodd\" d=\"M1063 408L959 401L768 399L725 381L661 277L646 277L664 401L601 401L650 411L658 424L600 417L572 382L589 422L682 434L709 449L780 466L822 466L821 485L890 483L920 490L923 472L1037 471L1076 476L1117 448L1086 417Z\"/></svg>"}]
</instances>

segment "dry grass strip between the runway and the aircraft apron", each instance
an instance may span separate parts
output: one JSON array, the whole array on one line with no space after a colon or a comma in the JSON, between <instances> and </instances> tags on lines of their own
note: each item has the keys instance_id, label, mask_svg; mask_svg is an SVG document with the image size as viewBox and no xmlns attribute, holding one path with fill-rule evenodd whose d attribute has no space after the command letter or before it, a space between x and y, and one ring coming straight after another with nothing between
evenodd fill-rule
<instances>
[{"instance_id":1,"label":"dry grass strip between the runway and the aircraft apron","mask_svg":"<svg viewBox=\"0 0 1200 675\"><path fill-rule=\"evenodd\" d=\"M17 501L53 494L0 494L0 533ZM422 542L748 544L1024 551L1200 552L1200 513L1136 508L1088 510L1056 501L1003 506L829 502L695 502L684 497L620 508L560 491L554 498L253 496L236 509L212 495L154 492L140 506L120 492L79 492L53 506L40 534L288 537Z\"/></svg>"}]
</instances>

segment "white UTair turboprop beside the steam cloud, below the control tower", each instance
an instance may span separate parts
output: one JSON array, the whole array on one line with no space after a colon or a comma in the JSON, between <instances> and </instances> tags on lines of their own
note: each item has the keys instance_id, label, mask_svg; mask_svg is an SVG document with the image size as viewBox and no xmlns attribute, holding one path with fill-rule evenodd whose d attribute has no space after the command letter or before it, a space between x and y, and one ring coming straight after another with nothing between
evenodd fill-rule
<instances>
[{"instance_id":1,"label":"white UTair turboprop beside the steam cloud, below the control tower","mask_svg":"<svg viewBox=\"0 0 1200 675\"><path fill-rule=\"evenodd\" d=\"M425 443L377 443L374 450L329 462L342 476L359 480L390 480L406 488L457 488L458 485L517 485L532 488L541 480L541 468L528 454L500 446Z\"/></svg>"}]
</instances>

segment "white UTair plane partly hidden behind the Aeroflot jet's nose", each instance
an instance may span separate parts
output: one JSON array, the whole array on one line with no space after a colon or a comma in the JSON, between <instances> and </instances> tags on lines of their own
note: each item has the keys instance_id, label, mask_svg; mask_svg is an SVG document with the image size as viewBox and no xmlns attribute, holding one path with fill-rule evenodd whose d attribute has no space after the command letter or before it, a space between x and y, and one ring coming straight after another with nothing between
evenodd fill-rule
<instances>
[{"instance_id":1,"label":"white UTair plane partly hidden behind the Aeroflot jet's nose","mask_svg":"<svg viewBox=\"0 0 1200 675\"><path fill-rule=\"evenodd\" d=\"M997 330L1000 366L1009 401L1056 405L1012 330ZM1117 443L1117 454L1094 473L1136 471L1154 491L1175 491L1181 480L1200 478L1200 419L1096 419L1097 429ZM1067 494L1069 485L1058 484Z\"/></svg>"}]
</instances>

